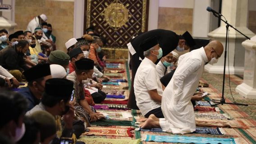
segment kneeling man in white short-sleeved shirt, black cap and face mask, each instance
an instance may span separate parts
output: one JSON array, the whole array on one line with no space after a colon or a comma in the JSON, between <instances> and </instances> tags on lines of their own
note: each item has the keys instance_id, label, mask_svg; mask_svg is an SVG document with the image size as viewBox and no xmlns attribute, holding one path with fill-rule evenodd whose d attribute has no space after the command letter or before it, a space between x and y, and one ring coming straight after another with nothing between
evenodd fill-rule
<instances>
[{"instance_id":1,"label":"kneeling man in white short-sleeved shirt, black cap and face mask","mask_svg":"<svg viewBox=\"0 0 256 144\"><path fill-rule=\"evenodd\" d=\"M164 117L161 110L162 86L157 76L155 62L163 55L155 37L145 40L141 47L145 58L137 69L134 78L134 94L137 106L142 115L149 117L154 114L156 117Z\"/></svg>"}]
</instances>

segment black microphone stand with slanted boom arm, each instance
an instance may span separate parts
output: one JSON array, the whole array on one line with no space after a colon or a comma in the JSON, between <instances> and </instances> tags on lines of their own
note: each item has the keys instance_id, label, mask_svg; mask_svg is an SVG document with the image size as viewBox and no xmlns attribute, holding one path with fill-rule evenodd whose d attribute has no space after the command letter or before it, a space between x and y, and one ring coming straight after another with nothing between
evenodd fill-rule
<instances>
[{"instance_id":1,"label":"black microphone stand with slanted boom arm","mask_svg":"<svg viewBox=\"0 0 256 144\"><path fill-rule=\"evenodd\" d=\"M221 21L223 21L224 23L226 23L226 44L225 44L225 53L224 53L224 72L223 72L223 84L222 84L222 96L221 96L221 99L220 100L215 100L215 99L212 99L213 102L215 102L215 104L212 104L211 106L216 106L216 105L219 105L219 104L235 104L235 105L243 105L243 106L248 106L248 104L243 104L243 103L226 103L225 99L224 99L224 85L225 85L225 71L226 71L226 59L227 59L227 41L228 41L228 30L229 30L229 27L232 27L234 30L238 31L235 27L233 27L232 25L230 25L228 23L227 20L223 20L221 18L221 15L216 15L215 13L213 13L213 15L217 18L219 18ZM250 38L246 35L244 35L242 32L238 31L240 34L242 34L243 36L245 36L247 39L250 40ZM216 102L216 101L219 101L219 102Z\"/></svg>"}]
</instances>

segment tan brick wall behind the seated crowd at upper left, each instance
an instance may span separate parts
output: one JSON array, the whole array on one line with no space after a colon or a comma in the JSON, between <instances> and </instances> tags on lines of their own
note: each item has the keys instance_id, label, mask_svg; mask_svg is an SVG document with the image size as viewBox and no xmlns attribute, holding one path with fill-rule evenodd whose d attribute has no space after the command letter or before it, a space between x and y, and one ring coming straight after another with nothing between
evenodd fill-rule
<instances>
[{"instance_id":1,"label":"tan brick wall behind the seated crowd at upper left","mask_svg":"<svg viewBox=\"0 0 256 144\"><path fill-rule=\"evenodd\" d=\"M46 14L47 23L53 27L57 49L66 51L65 42L73 37L73 1L15 0L15 31L27 29L27 24L37 15Z\"/></svg>"}]
</instances>

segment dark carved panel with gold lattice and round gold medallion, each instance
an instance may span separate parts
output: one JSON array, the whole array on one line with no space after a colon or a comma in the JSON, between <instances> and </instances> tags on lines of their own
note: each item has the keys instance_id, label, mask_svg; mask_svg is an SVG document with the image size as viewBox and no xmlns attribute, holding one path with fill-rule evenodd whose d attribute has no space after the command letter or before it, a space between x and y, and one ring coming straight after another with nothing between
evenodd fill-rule
<instances>
[{"instance_id":1,"label":"dark carved panel with gold lattice and round gold medallion","mask_svg":"<svg viewBox=\"0 0 256 144\"><path fill-rule=\"evenodd\" d=\"M107 40L105 49L127 49L133 36L147 31L148 0L87 0L85 27Z\"/></svg>"}]
</instances>

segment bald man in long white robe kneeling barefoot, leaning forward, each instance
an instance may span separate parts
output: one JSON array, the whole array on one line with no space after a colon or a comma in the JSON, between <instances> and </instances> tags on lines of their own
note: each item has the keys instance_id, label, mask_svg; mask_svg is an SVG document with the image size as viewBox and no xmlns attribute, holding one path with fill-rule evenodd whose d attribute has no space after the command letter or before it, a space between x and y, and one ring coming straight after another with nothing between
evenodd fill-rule
<instances>
[{"instance_id":1,"label":"bald man in long white robe kneeling barefoot, leaning forward","mask_svg":"<svg viewBox=\"0 0 256 144\"><path fill-rule=\"evenodd\" d=\"M161 108L165 118L151 114L141 127L161 127L163 131L173 134L195 131L195 114L190 100L197 89L205 63L217 63L222 53L223 45L214 40L205 47L180 56L174 76L162 95Z\"/></svg>"}]
</instances>

